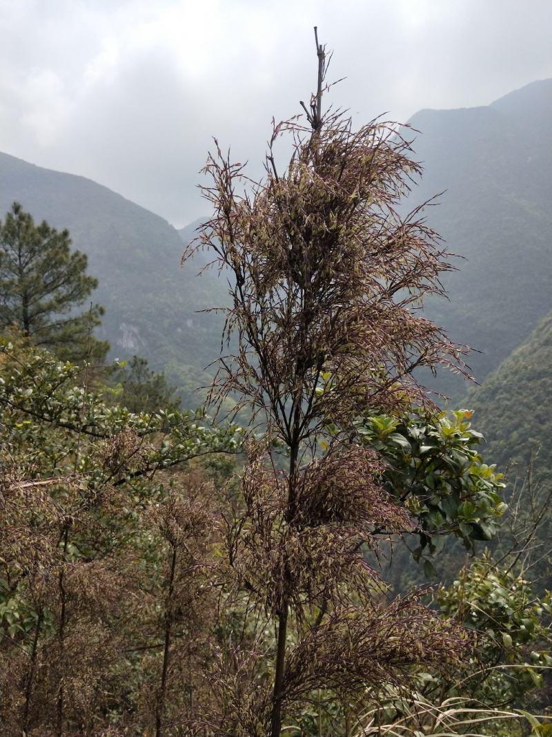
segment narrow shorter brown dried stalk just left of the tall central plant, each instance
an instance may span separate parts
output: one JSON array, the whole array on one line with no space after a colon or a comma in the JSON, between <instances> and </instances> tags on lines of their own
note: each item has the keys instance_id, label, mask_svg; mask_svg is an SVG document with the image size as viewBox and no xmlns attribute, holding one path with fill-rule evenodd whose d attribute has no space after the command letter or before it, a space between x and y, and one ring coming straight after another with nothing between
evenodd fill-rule
<instances>
[{"instance_id":1,"label":"narrow shorter brown dried stalk just left of the tall central plant","mask_svg":"<svg viewBox=\"0 0 552 737\"><path fill-rule=\"evenodd\" d=\"M139 722L152 724L155 735L182 728L205 700L202 677L210 660L208 625L216 608L213 591L213 542L216 525L209 500L213 485L196 471L185 475L185 495L169 495L149 510L164 548L161 606L155 629L163 633L158 660L158 687L141 694ZM180 693L179 693L180 692Z\"/></svg>"}]
</instances>

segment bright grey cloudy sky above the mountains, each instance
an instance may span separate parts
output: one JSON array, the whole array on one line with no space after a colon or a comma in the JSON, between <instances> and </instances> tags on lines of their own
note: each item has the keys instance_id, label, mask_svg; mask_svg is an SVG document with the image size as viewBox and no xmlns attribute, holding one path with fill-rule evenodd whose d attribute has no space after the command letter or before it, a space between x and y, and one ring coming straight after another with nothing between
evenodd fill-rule
<instances>
[{"instance_id":1,"label":"bright grey cloudy sky above the mountains","mask_svg":"<svg viewBox=\"0 0 552 737\"><path fill-rule=\"evenodd\" d=\"M183 226L211 137L256 175L308 99L314 24L358 123L552 77L552 0L0 0L0 150Z\"/></svg>"}]
</instances>

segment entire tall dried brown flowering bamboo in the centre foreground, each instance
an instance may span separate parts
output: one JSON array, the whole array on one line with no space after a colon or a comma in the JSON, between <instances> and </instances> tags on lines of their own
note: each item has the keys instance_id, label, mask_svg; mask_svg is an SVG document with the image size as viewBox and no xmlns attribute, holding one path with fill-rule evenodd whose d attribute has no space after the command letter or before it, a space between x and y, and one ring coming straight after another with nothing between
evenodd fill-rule
<instances>
[{"instance_id":1,"label":"entire tall dried brown flowering bamboo in the centre foreground","mask_svg":"<svg viewBox=\"0 0 552 737\"><path fill-rule=\"evenodd\" d=\"M317 37L316 54L308 125L274 126L262 182L216 142L203 189L214 214L184 255L210 248L230 275L224 338L238 347L220 359L210 399L247 405L265 443L250 447L224 536L226 607L241 608L243 624L227 632L213 674L221 708L203 723L220 737L279 737L315 689L344 702L469 649L414 599L382 601L364 560L378 534L414 523L381 489L381 460L355 445L354 420L431 411L414 371L464 371L464 348L420 315L451 267L422 207L399 212L420 174L410 144L394 125L355 131L339 111L322 116ZM292 153L279 171L285 135Z\"/></svg>"}]
</instances>

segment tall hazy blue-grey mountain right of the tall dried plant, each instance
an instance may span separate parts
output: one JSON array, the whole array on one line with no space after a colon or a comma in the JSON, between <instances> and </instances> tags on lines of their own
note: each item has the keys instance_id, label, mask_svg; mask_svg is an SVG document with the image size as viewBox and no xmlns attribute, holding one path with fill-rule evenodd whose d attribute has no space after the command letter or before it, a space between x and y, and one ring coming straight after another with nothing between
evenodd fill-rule
<instances>
[{"instance_id":1,"label":"tall hazy blue-grey mountain right of the tall dried plant","mask_svg":"<svg viewBox=\"0 0 552 737\"><path fill-rule=\"evenodd\" d=\"M482 380L552 308L552 80L533 83L482 108L420 111L414 149L425 174L414 204L446 192L425 214L447 241L459 271L444 280L450 301L428 315L453 339L482 354ZM450 375L453 399L466 391Z\"/></svg>"}]
</instances>

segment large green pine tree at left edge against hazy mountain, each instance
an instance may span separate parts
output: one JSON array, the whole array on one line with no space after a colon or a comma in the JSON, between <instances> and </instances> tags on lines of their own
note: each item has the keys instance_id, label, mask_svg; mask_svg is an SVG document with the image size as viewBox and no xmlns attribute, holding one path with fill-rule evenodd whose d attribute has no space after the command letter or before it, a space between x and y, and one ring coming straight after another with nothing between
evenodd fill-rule
<instances>
[{"instance_id":1,"label":"large green pine tree at left edge against hazy mountain","mask_svg":"<svg viewBox=\"0 0 552 737\"><path fill-rule=\"evenodd\" d=\"M101 359L108 344L91 333L103 308L91 305L77 312L96 289L88 276L88 259L71 251L67 230L46 221L35 225L32 215L14 202L0 220L0 329L16 326L38 346L72 360Z\"/></svg>"}]
</instances>

